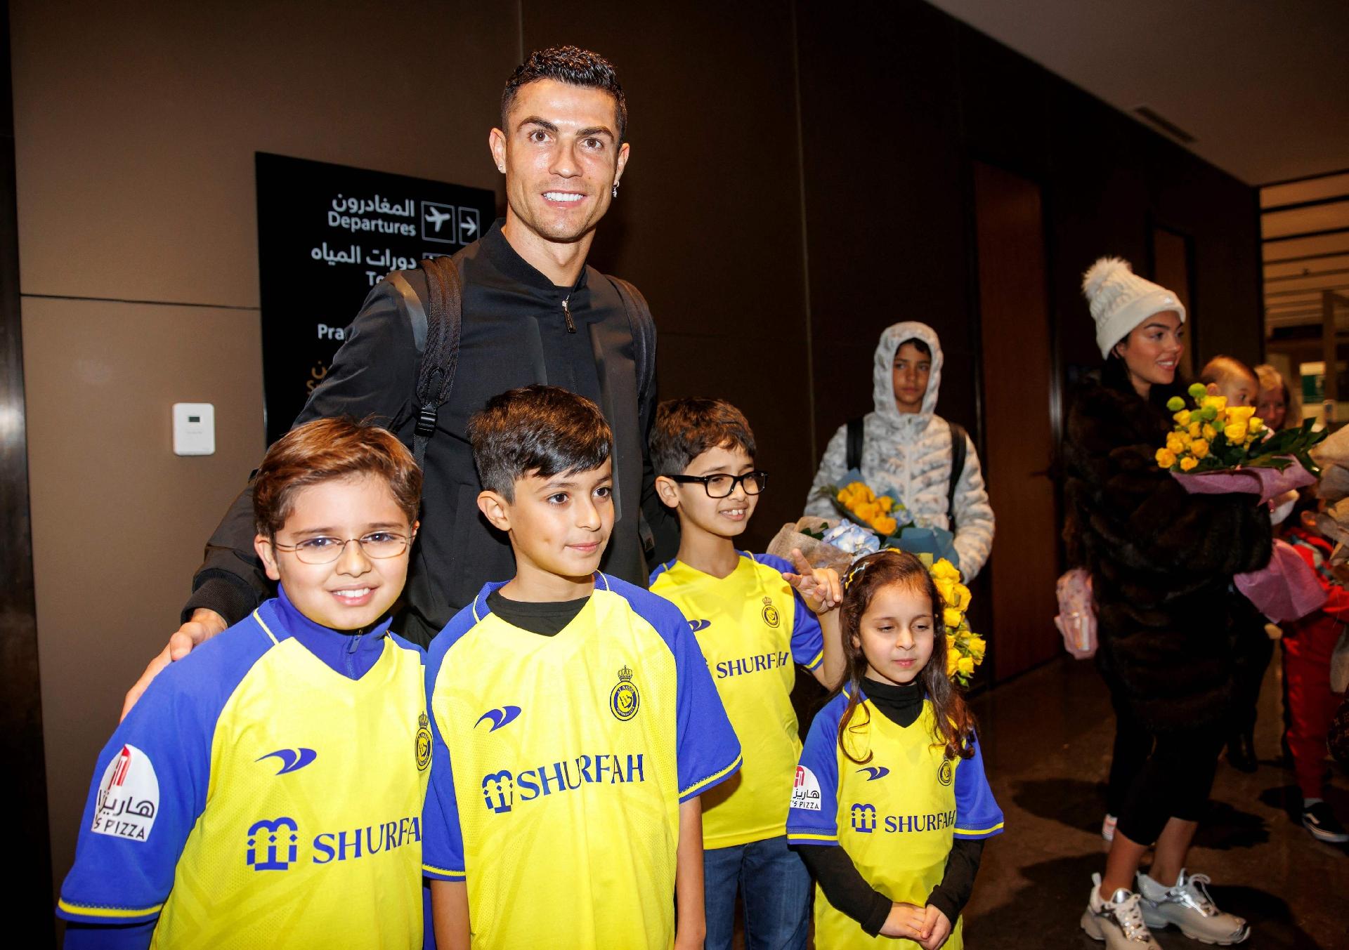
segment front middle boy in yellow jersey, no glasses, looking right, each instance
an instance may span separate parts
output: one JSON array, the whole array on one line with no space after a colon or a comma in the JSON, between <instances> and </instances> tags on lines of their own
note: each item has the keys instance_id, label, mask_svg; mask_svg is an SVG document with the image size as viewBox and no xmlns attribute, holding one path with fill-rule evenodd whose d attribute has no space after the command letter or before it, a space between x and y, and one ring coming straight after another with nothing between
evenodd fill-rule
<instances>
[{"instance_id":1,"label":"front middle boy in yellow jersey, no glasses, looking right","mask_svg":"<svg viewBox=\"0 0 1349 950\"><path fill-rule=\"evenodd\" d=\"M428 658L437 942L700 947L699 795L741 748L679 610L598 570L615 507L638 503L614 495L608 423L532 385L468 431L478 508L515 577L486 585Z\"/></svg>"}]
</instances>

